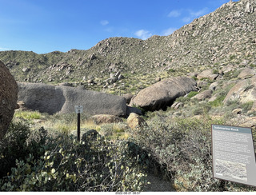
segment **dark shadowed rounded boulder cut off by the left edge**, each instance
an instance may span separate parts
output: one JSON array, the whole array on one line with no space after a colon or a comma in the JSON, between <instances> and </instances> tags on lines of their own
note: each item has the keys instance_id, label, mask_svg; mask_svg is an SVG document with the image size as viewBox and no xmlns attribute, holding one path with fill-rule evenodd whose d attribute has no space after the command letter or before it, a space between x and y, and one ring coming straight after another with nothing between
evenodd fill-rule
<instances>
[{"instance_id":1,"label":"dark shadowed rounded boulder cut off by the left edge","mask_svg":"<svg viewBox=\"0 0 256 195\"><path fill-rule=\"evenodd\" d=\"M0 140L6 134L14 109L18 108L18 86L5 64L0 61Z\"/></svg>"}]
</instances>

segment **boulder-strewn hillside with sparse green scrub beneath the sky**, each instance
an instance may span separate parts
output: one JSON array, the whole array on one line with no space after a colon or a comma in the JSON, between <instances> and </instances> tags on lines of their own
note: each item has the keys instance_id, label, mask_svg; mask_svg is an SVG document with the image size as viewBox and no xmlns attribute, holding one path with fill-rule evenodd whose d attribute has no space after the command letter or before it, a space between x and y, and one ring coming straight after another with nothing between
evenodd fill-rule
<instances>
[{"instance_id":1,"label":"boulder-strewn hillside with sparse green scrub beneath the sky","mask_svg":"<svg viewBox=\"0 0 256 195\"><path fill-rule=\"evenodd\" d=\"M256 2L230 1L166 37L154 35L145 41L107 38L90 50L66 53L2 51L0 60L19 82L73 82L104 90L119 80L115 85L119 90L133 86L134 81L145 88L154 82L152 77L166 78L177 71L180 75L225 66L256 66L255 26ZM120 78L108 79L117 73Z\"/></svg>"}]
</instances>

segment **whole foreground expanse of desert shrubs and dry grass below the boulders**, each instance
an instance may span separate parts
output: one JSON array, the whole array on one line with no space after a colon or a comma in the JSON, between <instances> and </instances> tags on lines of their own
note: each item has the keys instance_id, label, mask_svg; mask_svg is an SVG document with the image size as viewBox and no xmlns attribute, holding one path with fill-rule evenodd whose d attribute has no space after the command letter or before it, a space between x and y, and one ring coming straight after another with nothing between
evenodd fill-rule
<instances>
[{"instance_id":1,"label":"whole foreground expanse of desert shrubs and dry grass below the boulders","mask_svg":"<svg viewBox=\"0 0 256 195\"><path fill-rule=\"evenodd\" d=\"M230 125L229 115L210 117L214 108L198 117L193 109L186 117L171 117L174 109L146 112L148 125L138 129L125 119L96 125L82 114L81 141L76 114L16 111L1 141L1 190L143 191L151 173L177 191L254 191L212 177L210 125Z\"/></svg>"}]
</instances>

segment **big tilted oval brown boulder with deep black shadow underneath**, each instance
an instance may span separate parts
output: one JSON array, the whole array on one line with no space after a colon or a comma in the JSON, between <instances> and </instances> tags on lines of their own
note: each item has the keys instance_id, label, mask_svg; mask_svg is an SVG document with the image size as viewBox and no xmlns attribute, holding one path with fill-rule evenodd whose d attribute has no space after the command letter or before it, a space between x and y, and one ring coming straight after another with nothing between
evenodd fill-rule
<instances>
[{"instance_id":1,"label":"big tilted oval brown boulder with deep black shadow underneath","mask_svg":"<svg viewBox=\"0 0 256 195\"><path fill-rule=\"evenodd\" d=\"M197 83L193 78L168 78L141 90L130 101L130 106L137 105L145 110L166 109L176 98L182 97L190 91L197 91Z\"/></svg>"}]
</instances>

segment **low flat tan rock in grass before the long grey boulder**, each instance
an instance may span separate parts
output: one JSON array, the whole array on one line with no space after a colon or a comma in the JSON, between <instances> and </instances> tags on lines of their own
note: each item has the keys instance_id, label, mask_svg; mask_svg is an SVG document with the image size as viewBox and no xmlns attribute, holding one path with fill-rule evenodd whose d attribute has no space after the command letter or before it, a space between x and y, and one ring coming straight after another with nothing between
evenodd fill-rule
<instances>
[{"instance_id":1,"label":"low flat tan rock in grass before the long grey boulder","mask_svg":"<svg viewBox=\"0 0 256 195\"><path fill-rule=\"evenodd\" d=\"M110 114L98 114L90 117L89 121L93 121L96 125L101 125L104 123L122 122L122 118Z\"/></svg>"}]
</instances>

